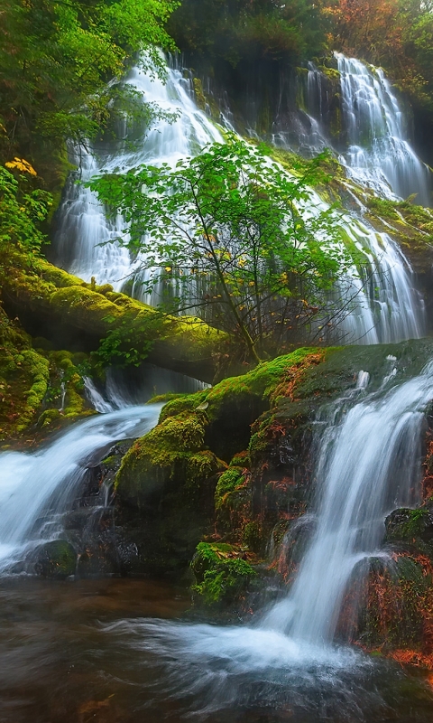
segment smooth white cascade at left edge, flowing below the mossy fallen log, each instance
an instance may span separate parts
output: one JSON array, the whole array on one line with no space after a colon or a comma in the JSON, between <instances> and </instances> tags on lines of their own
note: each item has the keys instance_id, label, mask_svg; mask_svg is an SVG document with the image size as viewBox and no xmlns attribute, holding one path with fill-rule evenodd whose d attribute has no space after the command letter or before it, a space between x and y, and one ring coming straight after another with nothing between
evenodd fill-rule
<instances>
[{"instance_id":1,"label":"smooth white cascade at left edge, flowing below the mossy fallen log","mask_svg":"<svg viewBox=\"0 0 433 723\"><path fill-rule=\"evenodd\" d=\"M160 404L120 409L78 422L33 454L0 455L0 571L13 567L42 541L59 538L92 457L119 439L154 427Z\"/></svg>"}]
</instances>

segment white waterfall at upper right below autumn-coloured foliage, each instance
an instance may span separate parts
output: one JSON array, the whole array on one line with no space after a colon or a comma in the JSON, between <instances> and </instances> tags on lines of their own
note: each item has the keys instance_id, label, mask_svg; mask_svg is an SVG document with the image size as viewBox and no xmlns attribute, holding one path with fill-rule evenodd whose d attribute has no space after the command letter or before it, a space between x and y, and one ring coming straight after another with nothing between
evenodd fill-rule
<instances>
[{"instance_id":1,"label":"white waterfall at upper right below autumn-coloured foliage","mask_svg":"<svg viewBox=\"0 0 433 723\"><path fill-rule=\"evenodd\" d=\"M410 147L404 117L382 68L370 70L355 58L335 53L341 82L347 149L340 156L349 176L386 198L407 198L429 206L430 174Z\"/></svg>"}]
</instances>

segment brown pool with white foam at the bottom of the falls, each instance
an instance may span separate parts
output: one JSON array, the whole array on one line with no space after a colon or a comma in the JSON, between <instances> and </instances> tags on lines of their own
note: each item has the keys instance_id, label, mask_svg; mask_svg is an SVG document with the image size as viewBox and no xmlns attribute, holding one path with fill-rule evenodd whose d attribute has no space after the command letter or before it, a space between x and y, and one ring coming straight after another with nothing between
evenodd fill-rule
<instances>
[{"instance_id":1,"label":"brown pool with white foam at the bottom of the falls","mask_svg":"<svg viewBox=\"0 0 433 723\"><path fill-rule=\"evenodd\" d=\"M148 579L0 581L0 723L430 723L424 676L189 615Z\"/></svg>"}]
</instances>

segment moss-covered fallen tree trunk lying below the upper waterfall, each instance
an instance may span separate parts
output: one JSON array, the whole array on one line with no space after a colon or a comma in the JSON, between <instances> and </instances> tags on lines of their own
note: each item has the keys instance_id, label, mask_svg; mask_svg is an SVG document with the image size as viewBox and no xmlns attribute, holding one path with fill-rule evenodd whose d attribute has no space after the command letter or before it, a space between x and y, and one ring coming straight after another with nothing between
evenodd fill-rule
<instances>
[{"instance_id":1,"label":"moss-covered fallen tree trunk lying below the upper waterfall","mask_svg":"<svg viewBox=\"0 0 433 723\"><path fill-rule=\"evenodd\" d=\"M113 330L124 331L138 355L164 369L212 381L230 344L198 318L162 315L152 306L109 284L87 284L42 258L14 251L2 259L2 301L32 336L44 336L56 348L96 351ZM232 370L233 371L233 370Z\"/></svg>"}]
</instances>

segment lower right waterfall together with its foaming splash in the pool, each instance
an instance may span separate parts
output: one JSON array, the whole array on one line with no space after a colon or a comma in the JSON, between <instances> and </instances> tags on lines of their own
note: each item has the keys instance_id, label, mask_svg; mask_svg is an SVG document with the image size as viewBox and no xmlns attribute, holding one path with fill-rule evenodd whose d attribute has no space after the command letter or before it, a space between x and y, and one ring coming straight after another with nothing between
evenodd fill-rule
<instances>
[{"instance_id":1,"label":"lower right waterfall together with its foaming splash in the pool","mask_svg":"<svg viewBox=\"0 0 433 723\"><path fill-rule=\"evenodd\" d=\"M379 390L367 394L369 374L361 371L355 390L318 419L316 530L289 594L259 624L132 619L106 627L116 645L140 653L143 667L162 664L170 697L185 700L188 710L193 696L195 715L207 719L218 710L254 705L273 710L276 700L308 721L364 721L370 704L383 711L377 663L337 646L334 636L356 566L386 556L380 549L385 515L419 502L420 438L433 398L433 362L386 391L395 384L394 361L388 358L390 373ZM313 515L308 517L310 527Z\"/></svg>"}]
</instances>

